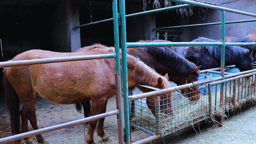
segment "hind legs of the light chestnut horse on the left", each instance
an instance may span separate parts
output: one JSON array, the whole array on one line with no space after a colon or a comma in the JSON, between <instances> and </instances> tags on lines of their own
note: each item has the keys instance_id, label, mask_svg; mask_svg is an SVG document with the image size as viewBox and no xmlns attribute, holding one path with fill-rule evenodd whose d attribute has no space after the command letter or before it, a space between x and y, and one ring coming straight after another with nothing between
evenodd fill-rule
<instances>
[{"instance_id":1,"label":"hind legs of the light chestnut horse on the left","mask_svg":"<svg viewBox=\"0 0 256 144\"><path fill-rule=\"evenodd\" d=\"M22 132L28 132L28 120L34 130L38 130L37 126L37 116L35 111L35 103L25 103L21 109L21 122L22 122ZM41 134L37 135L37 142L40 144L48 144ZM33 140L31 138L25 138L26 144L32 144Z\"/></svg>"}]
</instances>

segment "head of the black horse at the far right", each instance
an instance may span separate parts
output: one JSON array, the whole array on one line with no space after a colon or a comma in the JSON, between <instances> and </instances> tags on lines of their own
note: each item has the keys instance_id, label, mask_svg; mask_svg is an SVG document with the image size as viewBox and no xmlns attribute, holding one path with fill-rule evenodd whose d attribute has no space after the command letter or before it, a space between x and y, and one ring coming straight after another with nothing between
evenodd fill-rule
<instances>
[{"instance_id":1,"label":"head of the black horse at the far right","mask_svg":"<svg viewBox=\"0 0 256 144\"><path fill-rule=\"evenodd\" d=\"M248 50L243 57L241 57L241 60L237 60L237 63L235 66L241 71L249 71L253 70L252 62L254 61L254 57L252 56L253 49Z\"/></svg>"}]
</instances>

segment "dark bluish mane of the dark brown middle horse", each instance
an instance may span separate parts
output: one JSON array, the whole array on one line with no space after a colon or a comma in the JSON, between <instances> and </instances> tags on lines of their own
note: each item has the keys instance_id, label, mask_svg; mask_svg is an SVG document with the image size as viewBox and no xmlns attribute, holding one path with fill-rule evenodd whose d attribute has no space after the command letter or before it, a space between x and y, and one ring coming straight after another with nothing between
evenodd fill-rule
<instances>
[{"instance_id":1,"label":"dark bluish mane of the dark brown middle horse","mask_svg":"<svg viewBox=\"0 0 256 144\"><path fill-rule=\"evenodd\" d=\"M156 42L156 41L139 41L139 42ZM180 56L178 53L174 52L168 47L144 47L140 48L146 52L151 53L158 58L162 63L175 68L177 71L188 75L190 70L196 67L193 62L190 62Z\"/></svg>"}]
</instances>

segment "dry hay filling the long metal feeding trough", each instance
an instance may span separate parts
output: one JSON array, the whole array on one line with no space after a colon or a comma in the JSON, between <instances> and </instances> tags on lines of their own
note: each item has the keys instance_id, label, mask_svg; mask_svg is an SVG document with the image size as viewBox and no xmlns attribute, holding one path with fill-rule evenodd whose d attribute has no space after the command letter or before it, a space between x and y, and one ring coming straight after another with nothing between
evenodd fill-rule
<instances>
[{"instance_id":1,"label":"dry hay filling the long metal feeding trough","mask_svg":"<svg viewBox=\"0 0 256 144\"><path fill-rule=\"evenodd\" d=\"M245 79L245 80L243 80ZM216 116L227 117L225 112L233 111L237 108L240 108L244 103L255 104L256 96L254 96L254 84L255 76L248 78L243 78L236 80L236 103L232 104L233 98L233 82L224 84L224 99L220 103L220 87L219 85L213 85L212 89L212 104L211 109L213 115L209 115L209 96L208 93L201 95L201 98L198 101L190 102L187 98L180 99L173 106L174 116L168 117L164 114L161 114L160 117L160 134L161 136L176 132L185 127L194 125L195 123L202 120L209 120L216 125L219 124L216 121ZM239 83L240 81L240 83ZM206 84L207 85L207 84ZM238 89L239 87L239 89ZM207 89L207 86L204 87ZM180 95L178 92L173 92ZM175 96L175 94L174 94ZM176 95L177 96L177 95ZM132 117L131 124L135 123L149 131L156 132L156 118L151 113L145 105L146 102L141 102L139 109L135 110L135 114ZM136 106L135 106L136 108Z\"/></svg>"}]
</instances>

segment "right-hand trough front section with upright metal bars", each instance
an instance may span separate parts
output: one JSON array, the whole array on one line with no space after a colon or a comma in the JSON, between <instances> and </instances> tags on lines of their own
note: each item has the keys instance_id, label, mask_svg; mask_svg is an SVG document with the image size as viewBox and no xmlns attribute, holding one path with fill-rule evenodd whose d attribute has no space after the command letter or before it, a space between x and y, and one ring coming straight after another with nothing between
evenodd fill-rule
<instances>
[{"instance_id":1,"label":"right-hand trough front section with upright metal bars","mask_svg":"<svg viewBox=\"0 0 256 144\"><path fill-rule=\"evenodd\" d=\"M214 114L218 114L220 109L225 112L237 108L246 102L254 102L256 98L255 82L256 75L252 75L222 84L212 85L212 106L215 110ZM222 85L223 92L221 90ZM222 95L223 101L221 102Z\"/></svg>"}]
</instances>

